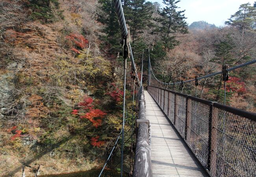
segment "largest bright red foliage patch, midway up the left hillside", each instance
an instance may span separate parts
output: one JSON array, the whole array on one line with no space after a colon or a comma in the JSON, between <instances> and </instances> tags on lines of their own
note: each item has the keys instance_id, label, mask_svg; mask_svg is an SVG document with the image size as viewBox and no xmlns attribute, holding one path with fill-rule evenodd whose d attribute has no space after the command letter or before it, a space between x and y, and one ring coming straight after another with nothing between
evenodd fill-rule
<instances>
[{"instance_id":1,"label":"largest bright red foliage patch, midway up the left hillside","mask_svg":"<svg viewBox=\"0 0 256 177\"><path fill-rule=\"evenodd\" d=\"M102 118L107 115L106 112L100 109L94 109L93 99L89 96L84 96L83 102L78 103L82 110L74 109L71 114L79 115L81 119L88 119L96 128L101 125Z\"/></svg>"}]
</instances>

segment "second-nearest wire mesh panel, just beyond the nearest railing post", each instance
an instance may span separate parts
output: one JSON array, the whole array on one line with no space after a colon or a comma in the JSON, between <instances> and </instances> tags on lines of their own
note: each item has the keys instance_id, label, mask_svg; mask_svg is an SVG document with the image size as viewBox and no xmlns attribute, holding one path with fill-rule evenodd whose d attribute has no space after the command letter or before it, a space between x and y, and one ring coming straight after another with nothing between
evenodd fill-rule
<instances>
[{"instance_id":1,"label":"second-nearest wire mesh panel, just beyond the nearest railing post","mask_svg":"<svg viewBox=\"0 0 256 177\"><path fill-rule=\"evenodd\" d=\"M210 104L188 99L186 140L204 166L208 162L209 119Z\"/></svg>"}]
</instances>

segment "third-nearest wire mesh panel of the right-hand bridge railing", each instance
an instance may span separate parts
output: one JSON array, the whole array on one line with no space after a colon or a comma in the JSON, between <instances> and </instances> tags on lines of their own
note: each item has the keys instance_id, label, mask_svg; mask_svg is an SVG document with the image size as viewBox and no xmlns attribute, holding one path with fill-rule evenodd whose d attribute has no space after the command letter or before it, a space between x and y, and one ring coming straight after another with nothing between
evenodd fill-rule
<instances>
[{"instance_id":1,"label":"third-nearest wire mesh panel of the right-hand bridge railing","mask_svg":"<svg viewBox=\"0 0 256 177\"><path fill-rule=\"evenodd\" d=\"M186 123L186 97L176 94L175 107L175 127L184 138Z\"/></svg>"}]
</instances>

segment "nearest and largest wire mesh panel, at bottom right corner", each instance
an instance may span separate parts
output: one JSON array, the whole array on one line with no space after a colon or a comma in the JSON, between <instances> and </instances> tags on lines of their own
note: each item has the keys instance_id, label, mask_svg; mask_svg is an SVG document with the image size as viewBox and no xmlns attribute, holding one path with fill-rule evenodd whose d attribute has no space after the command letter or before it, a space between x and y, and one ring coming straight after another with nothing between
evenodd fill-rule
<instances>
[{"instance_id":1,"label":"nearest and largest wire mesh panel, at bottom right corner","mask_svg":"<svg viewBox=\"0 0 256 177\"><path fill-rule=\"evenodd\" d=\"M256 122L214 107L210 172L217 177L256 176Z\"/></svg>"}]
</instances>

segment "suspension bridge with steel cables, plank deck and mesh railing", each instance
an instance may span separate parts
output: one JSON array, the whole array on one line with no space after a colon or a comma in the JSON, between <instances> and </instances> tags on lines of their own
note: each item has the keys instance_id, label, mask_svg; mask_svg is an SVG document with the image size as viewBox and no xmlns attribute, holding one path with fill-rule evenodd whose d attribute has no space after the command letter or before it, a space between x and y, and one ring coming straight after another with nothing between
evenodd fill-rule
<instances>
[{"instance_id":1,"label":"suspension bridge with steel cables, plank deck and mesh railing","mask_svg":"<svg viewBox=\"0 0 256 177\"><path fill-rule=\"evenodd\" d=\"M203 100L174 91L175 85L183 86L206 77L220 75L226 81L228 72L256 63L256 60L195 79L177 83L164 83L154 74L148 50L147 90L143 88L143 57L141 79L130 46L130 33L126 25L121 0L114 0L122 31L122 56L124 58L123 124L104 168L122 137L121 176L123 174L126 60L131 60L133 70L133 93L137 94L132 108L132 132L135 129L135 157L130 175L134 177L252 177L256 176L256 114L224 104ZM143 55L142 55L143 56ZM137 83L137 85L135 84ZM171 87L173 86L173 87ZM169 88L173 88L172 90ZM197 95L197 94L196 94ZM137 110L137 116L134 110ZM121 136L122 135L122 136ZM133 148L131 148L131 151ZM133 153L133 152L132 152Z\"/></svg>"}]
</instances>

